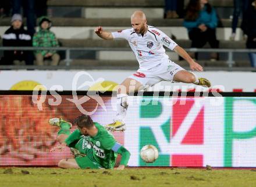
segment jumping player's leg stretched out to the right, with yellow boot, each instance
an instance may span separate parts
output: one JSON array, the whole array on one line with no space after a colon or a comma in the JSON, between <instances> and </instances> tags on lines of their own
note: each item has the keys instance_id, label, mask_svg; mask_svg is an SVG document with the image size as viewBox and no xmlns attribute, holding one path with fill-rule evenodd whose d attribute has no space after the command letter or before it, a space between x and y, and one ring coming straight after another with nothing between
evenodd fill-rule
<instances>
[{"instance_id":1,"label":"jumping player's leg stretched out to the right, with yellow boot","mask_svg":"<svg viewBox=\"0 0 256 187\"><path fill-rule=\"evenodd\" d=\"M204 87L211 87L211 82L205 78L198 78L193 72L186 70L180 70L173 76L173 80L176 82L193 83Z\"/></svg>"}]
</instances>

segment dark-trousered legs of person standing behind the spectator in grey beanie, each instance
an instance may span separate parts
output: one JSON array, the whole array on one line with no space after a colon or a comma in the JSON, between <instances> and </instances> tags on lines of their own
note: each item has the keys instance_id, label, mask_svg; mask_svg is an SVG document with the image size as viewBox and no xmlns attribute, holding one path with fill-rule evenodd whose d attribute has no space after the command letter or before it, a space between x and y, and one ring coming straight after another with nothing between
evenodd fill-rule
<instances>
[{"instance_id":1,"label":"dark-trousered legs of person standing behind the spectator in grey beanie","mask_svg":"<svg viewBox=\"0 0 256 187\"><path fill-rule=\"evenodd\" d=\"M20 14L22 6L23 13L27 17L27 31L33 36L35 33L35 0L13 0L13 14Z\"/></svg>"}]
</instances>

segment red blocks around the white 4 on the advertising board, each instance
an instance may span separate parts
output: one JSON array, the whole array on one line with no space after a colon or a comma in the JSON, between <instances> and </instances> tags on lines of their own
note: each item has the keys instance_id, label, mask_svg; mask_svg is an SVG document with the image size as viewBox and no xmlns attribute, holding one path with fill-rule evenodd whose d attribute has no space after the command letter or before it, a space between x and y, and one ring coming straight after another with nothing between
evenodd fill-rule
<instances>
[{"instance_id":1,"label":"red blocks around the white 4 on the advertising board","mask_svg":"<svg viewBox=\"0 0 256 187\"><path fill-rule=\"evenodd\" d=\"M195 99L193 97L178 98L172 109L172 137L182 126L187 115L193 113ZM198 106L199 107L199 106ZM190 129L186 132L181 145L202 145L204 144L204 107L201 107L192 122ZM172 166L202 167L204 156L202 154L181 153L180 155L171 155Z\"/></svg>"}]
</instances>

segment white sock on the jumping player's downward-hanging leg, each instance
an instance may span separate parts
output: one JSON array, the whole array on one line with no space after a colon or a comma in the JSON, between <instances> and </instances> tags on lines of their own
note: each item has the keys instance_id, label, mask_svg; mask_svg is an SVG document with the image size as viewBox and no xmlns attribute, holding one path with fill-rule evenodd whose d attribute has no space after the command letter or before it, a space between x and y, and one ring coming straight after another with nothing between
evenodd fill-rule
<instances>
[{"instance_id":1,"label":"white sock on the jumping player's downward-hanging leg","mask_svg":"<svg viewBox=\"0 0 256 187\"><path fill-rule=\"evenodd\" d=\"M118 94L116 96L116 120L125 122L126 111L128 108L128 95L127 94Z\"/></svg>"}]
</instances>

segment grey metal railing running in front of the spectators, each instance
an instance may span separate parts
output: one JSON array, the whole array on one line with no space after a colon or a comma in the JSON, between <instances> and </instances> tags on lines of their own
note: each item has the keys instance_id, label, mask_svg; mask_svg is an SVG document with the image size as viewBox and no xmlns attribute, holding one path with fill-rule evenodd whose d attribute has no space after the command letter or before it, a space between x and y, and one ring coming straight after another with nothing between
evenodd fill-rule
<instances>
[{"instance_id":1,"label":"grey metal railing running in front of the spectators","mask_svg":"<svg viewBox=\"0 0 256 187\"><path fill-rule=\"evenodd\" d=\"M72 58L70 58L70 53L72 51L130 51L129 47L0 47L0 51L3 50L28 50L28 51L35 51L35 50L56 50L56 51L65 51L65 65L69 67L70 63L72 62ZM187 52L216 52L216 53L227 53L227 65L229 68L234 68L234 60L233 56L234 53L256 53L256 49L201 49L201 48L188 48L185 49ZM0 67L6 68L13 68L14 65L0 65ZM31 66L30 66L31 67ZM33 66L38 67L38 66ZM33 68L31 67L31 68ZM17 69L17 68L15 68ZM58 66L59 69L59 66ZM213 68L214 69L214 68ZM218 68L215 68L218 69ZM236 68L237 69L237 68ZM240 68L243 69L243 68ZM244 68L254 70L255 68Z\"/></svg>"}]
</instances>

